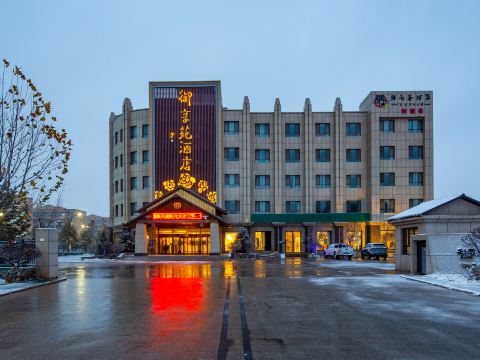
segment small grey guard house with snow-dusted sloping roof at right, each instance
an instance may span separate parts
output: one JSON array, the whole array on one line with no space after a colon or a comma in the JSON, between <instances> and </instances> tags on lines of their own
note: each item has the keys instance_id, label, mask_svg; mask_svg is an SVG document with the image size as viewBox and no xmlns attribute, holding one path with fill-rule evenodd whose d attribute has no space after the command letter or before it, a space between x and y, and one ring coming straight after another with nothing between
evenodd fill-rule
<instances>
[{"instance_id":1,"label":"small grey guard house with snow-dusted sloping roof at right","mask_svg":"<svg viewBox=\"0 0 480 360\"><path fill-rule=\"evenodd\" d=\"M458 272L456 249L480 226L480 202L465 194L426 201L388 219L395 225L397 270L415 274Z\"/></svg>"}]
</instances>

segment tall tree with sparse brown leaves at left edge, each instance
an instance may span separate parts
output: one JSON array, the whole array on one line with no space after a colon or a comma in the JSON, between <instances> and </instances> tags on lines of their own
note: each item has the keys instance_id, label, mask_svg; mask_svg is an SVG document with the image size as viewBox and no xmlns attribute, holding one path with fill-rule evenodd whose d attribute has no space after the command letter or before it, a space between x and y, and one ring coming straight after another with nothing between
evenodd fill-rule
<instances>
[{"instance_id":1,"label":"tall tree with sparse brown leaves at left edge","mask_svg":"<svg viewBox=\"0 0 480 360\"><path fill-rule=\"evenodd\" d=\"M72 142L18 66L3 60L0 81L0 227L16 229L28 221L24 204L44 204L61 188Z\"/></svg>"}]
</instances>

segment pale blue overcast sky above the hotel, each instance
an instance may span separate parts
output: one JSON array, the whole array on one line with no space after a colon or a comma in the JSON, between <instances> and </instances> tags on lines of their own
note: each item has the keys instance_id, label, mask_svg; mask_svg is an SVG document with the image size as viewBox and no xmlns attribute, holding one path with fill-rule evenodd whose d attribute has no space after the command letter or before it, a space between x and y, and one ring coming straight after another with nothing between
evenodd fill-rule
<instances>
[{"instance_id":1,"label":"pale blue overcast sky above the hotel","mask_svg":"<svg viewBox=\"0 0 480 360\"><path fill-rule=\"evenodd\" d=\"M0 33L73 139L66 207L108 215L109 114L154 80L221 80L251 111L433 90L435 197L480 199L480 1L0 0Z\"/></svg>"}]
</instances>

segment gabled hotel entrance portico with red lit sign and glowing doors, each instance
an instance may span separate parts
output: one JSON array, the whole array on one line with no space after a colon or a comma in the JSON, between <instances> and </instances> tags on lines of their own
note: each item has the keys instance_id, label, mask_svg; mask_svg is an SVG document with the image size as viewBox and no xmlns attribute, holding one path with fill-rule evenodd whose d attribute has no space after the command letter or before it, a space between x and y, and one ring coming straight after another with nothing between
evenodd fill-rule
<instances>
[{"instance_id":1,"label":"gabled hotel entrance portico with red lit sign and glowing doors","mask_svg":"<svg viewBox=\"0 0 480 360\"><path fill-rule=\"evenodd\" d=\"M134 232L135 255L218 255L228 226L225 210L182 187L139 210L126 225Z\"/></svg>"}]
</instances>

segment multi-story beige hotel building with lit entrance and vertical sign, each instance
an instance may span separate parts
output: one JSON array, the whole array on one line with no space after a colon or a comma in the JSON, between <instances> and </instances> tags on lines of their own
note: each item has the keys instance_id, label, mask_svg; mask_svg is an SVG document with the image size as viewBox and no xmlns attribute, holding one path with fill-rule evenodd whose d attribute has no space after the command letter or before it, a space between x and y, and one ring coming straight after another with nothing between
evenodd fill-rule
<instances>
[{"instance_id":1,"label":"multi-story beige hotel building with lit entrance and vertical sign","mask_svg":"<svg viewBox=\"0 0 480 360\"><path fill-rule=\"evenodd\" d=\"M386 218L433 197L431 91L251 112L222 107L219 81L149 86L149 108L110 115L110 220L137 253L226 252L240 227L258 251L393 248Z\"/></svg>"}]
</instances>

